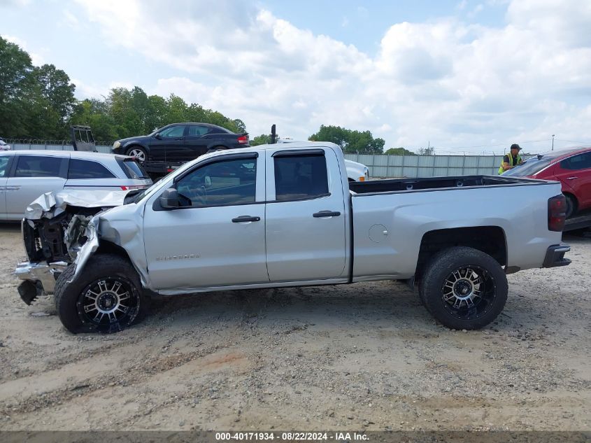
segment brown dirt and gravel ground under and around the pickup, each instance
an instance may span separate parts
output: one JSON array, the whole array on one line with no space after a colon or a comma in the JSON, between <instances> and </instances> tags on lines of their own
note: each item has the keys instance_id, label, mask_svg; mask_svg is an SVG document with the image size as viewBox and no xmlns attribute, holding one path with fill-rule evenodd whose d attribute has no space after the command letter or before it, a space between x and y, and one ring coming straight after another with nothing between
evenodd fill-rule
<instances>
[{"instance_id":1,"label":"brown dirt and gravel ground under and around the pickup","mask_svg":"<svg viewBox=\"0 0 591 443\"><path fill-rule=\"evenodd\" d=\"M187 295L115 335L27 307L0 225L2 430L590 430L591 239L508 276L489 328L443 328L385 281Z\"/></svg>"}]
</instances>

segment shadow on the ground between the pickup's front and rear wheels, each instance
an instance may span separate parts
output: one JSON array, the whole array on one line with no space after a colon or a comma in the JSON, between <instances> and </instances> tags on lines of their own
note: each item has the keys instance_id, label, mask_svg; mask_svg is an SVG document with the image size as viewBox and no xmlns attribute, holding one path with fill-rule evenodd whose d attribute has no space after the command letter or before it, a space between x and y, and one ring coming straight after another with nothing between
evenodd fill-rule
<instances>
[{"instance_id":1,"label":"shadow on the ground between the pickup's front and rear wheels","mask_svg":"<svg viewBox=\"0 0 591 443\"><path fill-rule=\"evenodd\" d=\"M178 295L152 300L148 315L148 321L174 323L432 323L430 318L416 294L390 281Z\"/></svg>"}]
</instances>

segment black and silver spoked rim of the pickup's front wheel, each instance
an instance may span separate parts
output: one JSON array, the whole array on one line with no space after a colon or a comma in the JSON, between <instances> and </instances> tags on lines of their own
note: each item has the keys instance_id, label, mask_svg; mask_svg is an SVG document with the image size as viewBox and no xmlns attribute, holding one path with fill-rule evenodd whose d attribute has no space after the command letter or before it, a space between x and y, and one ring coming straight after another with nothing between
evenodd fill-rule
<instances>
[{"instance_id":1,"label":"black and silver spoked rim of the pickup's front wheel","mask_svg":"<svg viewBox=\"0 0 591 443\"><path fill-rule=\"evenodd\" d=\"M131 324L139 306L137 290L120 276L97 279L78 296L80 319L101 332L120 330Z\"/></svg>"}]
</instances>

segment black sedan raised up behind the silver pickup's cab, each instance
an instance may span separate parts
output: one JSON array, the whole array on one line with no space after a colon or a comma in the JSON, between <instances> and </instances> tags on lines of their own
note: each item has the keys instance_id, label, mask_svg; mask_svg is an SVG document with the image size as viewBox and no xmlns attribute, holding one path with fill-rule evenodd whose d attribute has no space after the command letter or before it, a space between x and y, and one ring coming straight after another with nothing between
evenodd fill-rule
<instances>
[{"instance_id":1,"label":"black sedan raised up behind the silver pickup's cab","mask_svg":"<svg viewBox=\"0 0 591 443\"><path fill-rule=\"evenodd\" d=\"M150 135L115 141L115 154L132 155L141 162L187 162L220 149L250 146L248 132L234 134L208 123L173 123Z\"/></svg>"}]
</instances>

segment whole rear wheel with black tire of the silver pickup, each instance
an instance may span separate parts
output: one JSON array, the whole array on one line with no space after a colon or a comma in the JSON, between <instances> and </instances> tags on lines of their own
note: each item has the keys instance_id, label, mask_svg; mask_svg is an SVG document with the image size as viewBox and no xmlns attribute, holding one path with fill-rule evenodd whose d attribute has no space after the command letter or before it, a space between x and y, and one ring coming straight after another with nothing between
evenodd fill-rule
<instances>
[{"instance_id":1,"label":"whole rear wheel with black tire of the silver pickup","mask_svg":"<svg viewBox=\"0 0 591 443\"><path fill-rule=\"evenodd\" d=\"M462 246L436 254L419 286L427 310L451 329L483 328L501 314L507 293L507 277L497 260Z\"/></svg>"}]
</instances>

